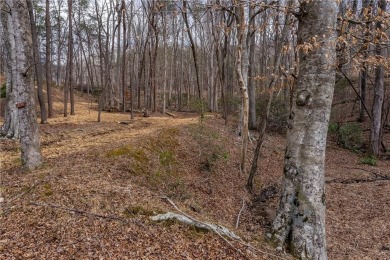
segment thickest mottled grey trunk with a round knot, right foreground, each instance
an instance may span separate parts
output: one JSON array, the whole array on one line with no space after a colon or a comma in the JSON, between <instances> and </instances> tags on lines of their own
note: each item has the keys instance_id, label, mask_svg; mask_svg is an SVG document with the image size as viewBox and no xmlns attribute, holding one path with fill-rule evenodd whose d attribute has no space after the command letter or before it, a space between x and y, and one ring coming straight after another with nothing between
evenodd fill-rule
<instances>
[{"instance_id":1,"label":"thickest mottled grey trunk with a round knot, right foreground","mask_svg":"<svg viewBox=\"0 0 390 260\"><path fill-rule=\"evenodd\" d=\"M337 1L306 1L299 28L301 48L296 96L290 114L284 180L272 240L301 259L327 259L325 149L336 61ZM316 37L316 38L314 38ZM316 39L313 42L313 39Z\"/></svg>"}]
</instances>

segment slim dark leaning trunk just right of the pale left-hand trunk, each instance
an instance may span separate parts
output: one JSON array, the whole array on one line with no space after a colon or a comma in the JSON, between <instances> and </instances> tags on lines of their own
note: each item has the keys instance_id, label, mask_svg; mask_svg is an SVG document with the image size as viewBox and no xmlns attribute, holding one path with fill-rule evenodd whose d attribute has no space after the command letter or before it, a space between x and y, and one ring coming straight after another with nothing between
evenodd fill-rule
<instances>
[{"instance_id":1,"label":"slim dark leaning trunk just right of the pale left-hand trunk","mask_svg":"<svg viewBox=\"0 0 390 260\"><path fill-rule=\"evenodd\" d=\"M46 104L45 98L43 95L43 70L40 59L40 52L38 50L38 39L37 39L37 27L34 19L34 10L32 6L31 0L26 0L28 6L28 13L30 16L30 24L31 24L31 35L32 35L32 44L33 44L33 57L34 57L34 68L35 68L35 76L37 78L38 84L38 103L41 109L41 124L47 123L47 112L46 112Z\"/></svg>"}]
</instances>

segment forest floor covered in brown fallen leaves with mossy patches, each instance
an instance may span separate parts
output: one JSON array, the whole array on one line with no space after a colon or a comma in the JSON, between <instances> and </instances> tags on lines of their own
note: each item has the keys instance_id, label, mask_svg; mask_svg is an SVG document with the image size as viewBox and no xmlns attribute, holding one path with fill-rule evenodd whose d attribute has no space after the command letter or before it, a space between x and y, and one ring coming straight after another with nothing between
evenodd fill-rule
<instances>
[{"instance_id":1,"label":"forest floor covered in brown fallen leaves with mossy patches","mask_svg":"<svg viewBox=\"0 0 390 260\"><path fill-rule=\"evenodd\" d=\"M248 195L238 167L241 139L216 114L200 124L191 113L130 120L103 112L97 123L88 99L78 96L76 115L66 118L56 101L56 116L40 125L42 167L24 171L18 144L0 140L0 259L291 259L265 239L280 192L284 135L267 135L255 194ZM360 160L328 143L329 259L390 259L390 161ZM152 221L178 213L164 196L245 242Z\"/></svg>"}]
</instances>

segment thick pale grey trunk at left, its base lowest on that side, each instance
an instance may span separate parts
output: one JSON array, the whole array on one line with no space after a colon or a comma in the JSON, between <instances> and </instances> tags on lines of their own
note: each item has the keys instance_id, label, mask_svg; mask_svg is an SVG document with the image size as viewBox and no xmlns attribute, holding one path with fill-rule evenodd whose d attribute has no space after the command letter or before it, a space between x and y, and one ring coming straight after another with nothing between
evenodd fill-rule
<instances>
[{"instance_id":1,"label":"thick pale grey trunk at left, its base lowest on that side","mask_svg":"<svg viewBox=\"0 0 390 260\"><path fill-rule=\"evenodd\" d=\"M15 42L15 48L11 50L15 55L12 59L14 70L7 78L12 77L12 92L16 95L13 105L17 107L22 164L31 170L38 167L42 159L30 70L33 57L29 14L26 1L7 0L6 3L11 10L8 19L12 21L12 29L8 27L6 34Z\"/></svg>"}]
</instances>

